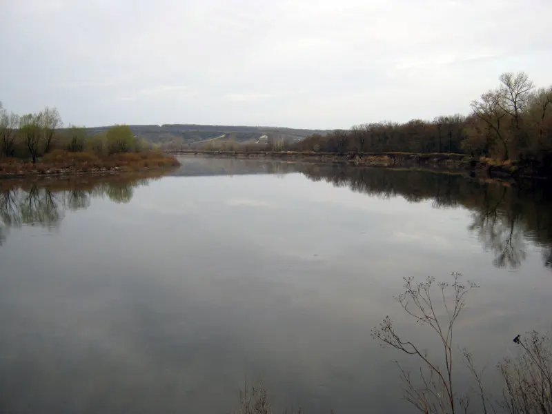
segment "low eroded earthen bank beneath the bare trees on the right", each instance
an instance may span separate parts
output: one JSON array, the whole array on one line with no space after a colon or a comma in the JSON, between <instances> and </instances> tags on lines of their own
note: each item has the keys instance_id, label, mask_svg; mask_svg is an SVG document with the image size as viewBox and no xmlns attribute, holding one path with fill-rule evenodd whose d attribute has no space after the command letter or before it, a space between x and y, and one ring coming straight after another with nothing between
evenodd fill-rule
<instances>
[{"instance_id":1,"label":"low eroded earthen bank beneath the bare trees on the right","mask_svg":"<svg viewBox=\"0 0 552 414\"><path fill-rule=\"evenodd\" d=\"M549 179L550 169L515 161L469 157L464 154L419 154L411 152L297 152L297 151L172 151L171 154L196 157L266 158L285 161L317 161L331 164L380 168L424 168L468 173L493 178Z\"/></svg>"}]
</instances>

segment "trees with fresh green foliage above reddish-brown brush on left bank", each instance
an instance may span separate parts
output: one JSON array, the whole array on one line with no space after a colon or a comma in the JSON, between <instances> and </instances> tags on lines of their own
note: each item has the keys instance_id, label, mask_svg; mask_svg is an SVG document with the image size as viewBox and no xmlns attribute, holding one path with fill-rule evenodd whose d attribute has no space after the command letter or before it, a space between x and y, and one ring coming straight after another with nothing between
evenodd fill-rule
<instances>
[{"instance_id":1,"label":"trees with fresh green foliage above reddish-brown brush on left bank","mask_svg":"<svg viewBox=\"0 0 552 414\"><path fill-rule=\"evenodd\" d=\"M38 113L17 115L0 102L0 158L30 159L36 164L52 150L92 152L101 157L150 148L127 125L115 125L95 135L88 135L83 127L62 127L57 108L46 106Z\"/></svg>"}]
</instances>

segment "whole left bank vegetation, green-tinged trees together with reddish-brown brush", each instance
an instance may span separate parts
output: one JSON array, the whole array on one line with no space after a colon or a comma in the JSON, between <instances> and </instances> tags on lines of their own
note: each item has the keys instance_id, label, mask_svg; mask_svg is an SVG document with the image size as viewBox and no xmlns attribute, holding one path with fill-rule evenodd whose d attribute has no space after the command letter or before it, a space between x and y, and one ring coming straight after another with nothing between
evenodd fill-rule
<instances>
[{"instance_id":1,"label":"whole left bank vegetation, green-tinged trees together with reddish-brown brush","mask_svg":"<svg viewBox=\"0 0 552 414\"><path fill-rule=\"evenodd\" d=\"M19 116L0 103L0 177L106 174L179 165L175 157L132 135L129 126L87 135L84 128L62 125L56 108Z\"/></svg>"}]
</instances>

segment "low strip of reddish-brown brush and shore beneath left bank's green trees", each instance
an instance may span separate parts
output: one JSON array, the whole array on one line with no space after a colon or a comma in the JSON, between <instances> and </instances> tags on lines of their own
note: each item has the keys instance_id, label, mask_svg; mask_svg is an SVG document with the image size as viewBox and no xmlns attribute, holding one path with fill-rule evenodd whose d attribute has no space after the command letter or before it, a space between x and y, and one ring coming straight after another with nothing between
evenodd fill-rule
<instances>
[{"instance_id":1,"label":"low strip of reddish-brown brush and shore beneath left bank's green trees","mask_svg":"<svg viewBox=\"0 0 552 414\"><path fill-rule=\"evenodd\" d=\"M0 178L117 175L126 172L170 170L179 165L174 156L157 151L97 157L90 152L55 150L36 164L16 158L0 159Z\"/></svg>"}]
</instances>

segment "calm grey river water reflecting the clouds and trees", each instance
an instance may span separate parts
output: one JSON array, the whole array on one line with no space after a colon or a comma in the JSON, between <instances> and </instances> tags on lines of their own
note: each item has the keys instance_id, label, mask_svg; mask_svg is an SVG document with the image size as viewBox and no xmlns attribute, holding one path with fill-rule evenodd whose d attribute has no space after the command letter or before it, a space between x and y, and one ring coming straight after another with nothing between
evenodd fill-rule
<instances>
[{"instance_id":1,"label":"calm grey river water reflecting the clouds and trees","mask_svg":"<svg viewBox=\"0 0 552 414\"><path fill-rule=\"evenodd\" d=\"M183 159L0 190L1 413L231 413L246 377L276 408L410 412L370 335L390 315L437 350L391 298L405 276L481 286L455 346L491 388L511 339L551 328L544 184Z\"/></svg>"}]
</instances>

